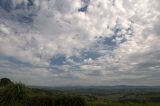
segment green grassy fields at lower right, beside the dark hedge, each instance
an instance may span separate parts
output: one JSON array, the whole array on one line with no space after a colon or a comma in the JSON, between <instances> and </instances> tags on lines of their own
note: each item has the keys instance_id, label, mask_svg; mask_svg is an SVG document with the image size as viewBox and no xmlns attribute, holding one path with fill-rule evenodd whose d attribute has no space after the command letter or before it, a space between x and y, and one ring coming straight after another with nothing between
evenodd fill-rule
<instances>
[{"instance_id":1,"label":"green grassy fields at lower right, beside the dark hedge","mask_svg":"<svg viewBox=\"0 0 160 106\"><path fill-rule=\"evenodd\" d=\"M160 106L159 92L115 93L89 96L87 106Z\"/></svg>"}]
</instances>

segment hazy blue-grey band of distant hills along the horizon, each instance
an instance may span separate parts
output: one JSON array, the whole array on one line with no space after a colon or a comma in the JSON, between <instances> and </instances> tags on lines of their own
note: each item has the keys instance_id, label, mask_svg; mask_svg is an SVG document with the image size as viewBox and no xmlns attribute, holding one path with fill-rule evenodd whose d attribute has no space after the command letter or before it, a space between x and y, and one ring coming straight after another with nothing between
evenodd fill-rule
<instances>
[{"instance_id":1,"label":"hazy blue-grey band of distant hills along the horizon","mask_svg":"<svg viewBox=\"0 0 160 106\"><path fill-rule=\"evenodd\" d=\"M160 92L160 86L64 86L64 87L47 87L47 86L30 86L43 90L58 90L75 93L142 93L142 92Z\"/></svg>"}]
</instances>

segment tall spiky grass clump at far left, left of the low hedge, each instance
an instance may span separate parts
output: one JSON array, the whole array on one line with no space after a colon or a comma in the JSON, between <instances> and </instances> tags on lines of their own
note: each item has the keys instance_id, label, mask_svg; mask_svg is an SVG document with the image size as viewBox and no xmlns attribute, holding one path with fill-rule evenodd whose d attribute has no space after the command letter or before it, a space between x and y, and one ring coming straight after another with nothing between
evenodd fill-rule
<instances>
[{"instance_id":1,"label":"tall spiky grass clump at far left, left of the low hedge","mask_svg":"<svg viewBox=\"0 0 160 106\"><path fill-rule=\"evenodd\" d=\"M9 84L2 89L0 104L3 106L21 106L26 103L28 89L21 83Z\"/></svg>"}]
</instances>

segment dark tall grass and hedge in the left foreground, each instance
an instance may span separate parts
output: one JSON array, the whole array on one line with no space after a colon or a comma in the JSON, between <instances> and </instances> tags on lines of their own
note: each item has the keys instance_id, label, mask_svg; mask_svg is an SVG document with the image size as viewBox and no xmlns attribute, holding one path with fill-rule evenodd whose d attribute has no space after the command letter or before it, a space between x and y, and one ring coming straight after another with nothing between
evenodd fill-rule
<instances>
[{"instance_id":1,"label":"dark tall grass and hedge in the left foreground","mask_svg":"<svg viewBox=\"0 0 160 106\"><path fill-rule=\"evenodd\" d=\"M34 93L21 83L0 86L0 106L85 106L81 96Z\"/></svg>"}]
</instances>

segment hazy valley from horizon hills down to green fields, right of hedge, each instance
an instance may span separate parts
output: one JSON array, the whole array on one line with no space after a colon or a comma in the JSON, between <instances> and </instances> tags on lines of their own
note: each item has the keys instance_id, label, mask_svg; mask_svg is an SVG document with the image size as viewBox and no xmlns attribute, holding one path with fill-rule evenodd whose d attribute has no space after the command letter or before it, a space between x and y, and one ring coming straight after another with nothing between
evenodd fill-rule
<instances>
[{"instance_id":1,"label":"hazy valley from horizon hills down to green fields, right of hedge","mask_svg":"<svg viewBox=\"0 0 160 106\"><path fill-rule=\"evenodd\" d=\"M87 106L158 106L160 86L42 87L49 92L79 95Z\"/></svg>"}]
</instances>

